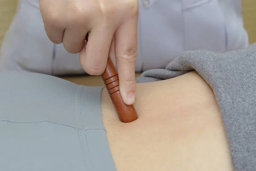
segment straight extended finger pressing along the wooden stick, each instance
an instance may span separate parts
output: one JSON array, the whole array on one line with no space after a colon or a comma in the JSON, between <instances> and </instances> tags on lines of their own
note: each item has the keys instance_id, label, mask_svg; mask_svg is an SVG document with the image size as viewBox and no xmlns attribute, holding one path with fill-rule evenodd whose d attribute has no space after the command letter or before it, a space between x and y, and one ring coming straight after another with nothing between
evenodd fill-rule
<instances>
[{"instance_id":1,"label":"straight extended finger pressing along the wooden stick","mask_svg":"<svg viewBox=\"0 0 256 171\"><path fill-rule=\"evenodd\" d=\"M116 66L122 100L127 105L135 102L135 62L137 56L137 18L122 25L115 34Z\"/></svg>"}]
</instances>

